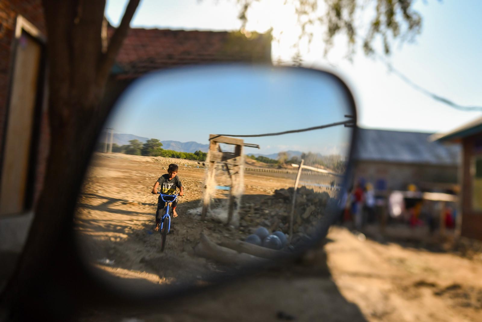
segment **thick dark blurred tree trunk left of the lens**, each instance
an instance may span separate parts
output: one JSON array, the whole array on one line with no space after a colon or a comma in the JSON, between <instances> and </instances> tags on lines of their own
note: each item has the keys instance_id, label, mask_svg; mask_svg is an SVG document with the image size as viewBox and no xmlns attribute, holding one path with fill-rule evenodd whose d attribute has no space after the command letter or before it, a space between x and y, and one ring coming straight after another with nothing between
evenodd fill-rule
<instances>
[{"instance_id":1,"label":"thick dark blurred tree trunk left of the lens","mask_svg":"<svg viewBox=\"0 0 482 322\"><path fill-rule=\"evenodd\" d=\"M11 320L24 320L28 314L65 320L68 315L68 309L51 306L49 294L42 298L45 292L65 291L63 283L75 283L69 274L74 279L80 276L75 276L81 268L72 253L73 212L83 173L109 112L110 107L101 109L100 104L107 77L138 3L130 1L105 54L101 38L105 0L42 1L48 38L51 142L44 186L24 252L1 294L1 308L9 311ZM62 297L57 295L53 296ZM79 294L63 295L70 300L66 307L75 306Z\"/></svg>"}]
</instances>

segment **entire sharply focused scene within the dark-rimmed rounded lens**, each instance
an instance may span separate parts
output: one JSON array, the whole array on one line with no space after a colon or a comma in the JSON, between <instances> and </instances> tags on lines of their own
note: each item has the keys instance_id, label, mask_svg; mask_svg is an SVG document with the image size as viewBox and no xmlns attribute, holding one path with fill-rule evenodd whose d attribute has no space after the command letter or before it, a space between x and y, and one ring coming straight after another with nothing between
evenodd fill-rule
<instances>
[{"instance_id":1,"label":"entire sharply focused scene within the dark-rimmed rounded lens","mask_svg":"<svg viewBox=\"0 0 482 322\"><path fill-rule=\"evenodd\" d=\"M183 68L136 81L79 197L82 256L133 294L295 252L339 203L351 104L333 75L299 68Z\"/></svg>"}]
</instances>

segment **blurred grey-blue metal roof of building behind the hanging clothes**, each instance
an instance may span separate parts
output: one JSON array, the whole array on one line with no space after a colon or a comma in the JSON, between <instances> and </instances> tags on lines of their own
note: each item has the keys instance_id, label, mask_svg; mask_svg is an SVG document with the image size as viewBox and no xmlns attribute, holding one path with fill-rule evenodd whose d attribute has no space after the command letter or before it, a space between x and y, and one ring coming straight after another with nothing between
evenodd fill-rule
<instances>
[{"instance_id":1,"label":"blurred grey-blue metal roof of building behind the hanging clothes","mask_svg":"<svg viewBox=\"0 0 482 322\"><path fill-rule=\"evenodd\" d=\"M359 128L355 159L391 163L456 166L460 164L459 144L428 140L432 133Z\"/></svg>"}]
</instances>

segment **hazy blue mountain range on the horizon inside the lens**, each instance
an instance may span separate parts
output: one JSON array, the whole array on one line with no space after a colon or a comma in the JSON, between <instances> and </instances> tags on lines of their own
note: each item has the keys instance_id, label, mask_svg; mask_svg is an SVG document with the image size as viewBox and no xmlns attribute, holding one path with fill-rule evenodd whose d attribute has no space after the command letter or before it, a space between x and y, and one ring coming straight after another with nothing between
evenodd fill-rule
<instances>
[{"instance_id":1,"label":"hazy blue mountain range on the horizon inside the lens","mask_svg":"<svg viewBox=\"0 0 482 322\"><path fill-rule=\"evenodd\" d=\"M106 137L106 134L104 132L104 134L101 136L102 142L105 142L105 137ZM144 143L147 140L149 140L149 138L139 137L139 136L134 135L134 134L114 133L113 142L118 144L118 145L127 145L127 144L129 144L130 140L139 140L142 143ZM201 144L201 143L194 142L194 141L189 141L189 142L161 141L161 143L162 143L162 149L173 150L173 151L178 151L178 152L194 153L198 150L201 150L202 152L208 152L208 149L209 149L209 144ZM301 155L300 151L286 151L286 152L288 153L289 156L300 156ZM249 154L253 154L254 156L262 155L262 156L266 156L270 159L277 159L278 158L278 153L273 153L273 154L249 153Z\"/></svg>"}]
</instances>

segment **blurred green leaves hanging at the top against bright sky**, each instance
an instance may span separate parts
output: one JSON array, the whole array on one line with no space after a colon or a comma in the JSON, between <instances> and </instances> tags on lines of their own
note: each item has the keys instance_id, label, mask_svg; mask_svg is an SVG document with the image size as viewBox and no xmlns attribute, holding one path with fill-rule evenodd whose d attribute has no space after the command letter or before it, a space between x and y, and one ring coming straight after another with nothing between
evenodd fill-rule
<instances>
[{"instance_id":1,"label":"blurred green leaves hanging at the top against bright sky","mask_svg":"<svg viewBox=\"0 0 482 322\"><path fill-rule=\"evenodd\" d=\"M254 2L263 0L238 0L239 18L242 26L249 19L248 12ZM421 15L415 11L413 0L285 0L285 5L295 7L300 35L293 46L313 40L315 28L322 30L325 43L324 54L328 54L335 37L346 37L348 58L355 53L357 42L361 42L366 55L372 55L375 42L383 48L385 55L391 52L392 42L411 41L420 33ZM276 12L273 12L276 14ZM315 40L316 41L316 40ZM296 64L297 62L295 62Z\"/></svg>"}]
</instances>

